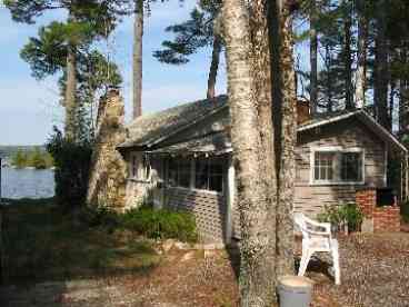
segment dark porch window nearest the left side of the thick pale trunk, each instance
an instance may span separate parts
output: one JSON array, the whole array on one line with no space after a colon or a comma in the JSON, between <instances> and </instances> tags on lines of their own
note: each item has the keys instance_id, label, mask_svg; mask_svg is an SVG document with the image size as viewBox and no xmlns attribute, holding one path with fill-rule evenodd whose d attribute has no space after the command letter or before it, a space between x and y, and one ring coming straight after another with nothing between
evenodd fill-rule
<instances>
[{"instance_id":1,"label":"dark porch window nearest the left side of the thick pale trunk","mask_svg":"<svg viewBox=\"0 0 409 307\"><path fill-rule=\"evenodd\" d=\"M194 188L222 192L223 190L223 165L218 159L197 159Z\"/></svg>"}]
</instances>

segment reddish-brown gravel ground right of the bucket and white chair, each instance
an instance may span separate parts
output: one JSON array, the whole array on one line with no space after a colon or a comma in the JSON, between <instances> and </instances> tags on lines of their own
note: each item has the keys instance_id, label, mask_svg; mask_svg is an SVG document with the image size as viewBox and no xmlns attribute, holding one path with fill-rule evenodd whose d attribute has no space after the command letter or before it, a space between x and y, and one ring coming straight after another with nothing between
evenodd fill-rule
<instances>
[{"instance_id":1,"label":"reddish-brown gravel ground right of the bucket and white chair","mask_svg":"<svg viewBox=\"0 0 409 307\"><path fill-rule=\"evenodd\" d=\"M309 270L317 283L315 307L409 306L409 234L357 234L339 242L340 286L325 274L328 261L317 261Z\"/></svg>"}]
</instances>

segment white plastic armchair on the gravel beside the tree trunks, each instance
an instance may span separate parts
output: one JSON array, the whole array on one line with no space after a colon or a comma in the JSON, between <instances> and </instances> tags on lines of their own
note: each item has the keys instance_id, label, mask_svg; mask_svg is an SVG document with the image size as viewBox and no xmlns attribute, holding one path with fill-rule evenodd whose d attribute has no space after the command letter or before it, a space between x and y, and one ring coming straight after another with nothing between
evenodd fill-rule
<instances>
[{"instance_id":1,"label":"white plastic armchair on the gravel beside the tree trunks","mask_svg":"<svg viewBox=\"0 0 409 307\"><path fill-rule=\"evenodd\" d=\"M341 284L338 240L331 237L331 224L318 222L303 214L295 214L296 225L302 232L302 256L298 276L303 276L315 252L330 252L333 261L336 285Z\"/></svg>"}]
</instances>

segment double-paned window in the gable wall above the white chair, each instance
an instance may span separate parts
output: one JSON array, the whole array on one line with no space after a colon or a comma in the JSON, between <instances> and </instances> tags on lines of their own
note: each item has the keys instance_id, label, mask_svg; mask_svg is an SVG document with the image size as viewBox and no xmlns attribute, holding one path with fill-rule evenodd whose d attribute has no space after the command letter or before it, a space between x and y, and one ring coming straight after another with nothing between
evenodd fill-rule
<instances>
[{"instance_id":1,"label":"double-paned window in the gable wall above the white chair","mask_svg":"<svg viewBox=\"0 0 409 307\"><path fill-rule=\"evenodd\" d=\"M360 149L313 151L315 184L359 184L363 181L363 152Z\"/></svg>"}]
</instances>

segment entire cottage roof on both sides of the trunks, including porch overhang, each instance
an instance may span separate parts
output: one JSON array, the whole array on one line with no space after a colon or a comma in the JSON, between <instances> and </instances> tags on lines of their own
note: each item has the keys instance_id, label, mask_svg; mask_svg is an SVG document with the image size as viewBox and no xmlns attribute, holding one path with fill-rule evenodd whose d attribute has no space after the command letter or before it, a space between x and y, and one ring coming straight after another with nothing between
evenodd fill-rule
<instances>
[{"instance_id":1,"label":"entire cottage roof on both sides of the trunks, including porch overhang","mask_svg":"<svg viewBox=\"0 0 409 307\"><path fill-rule=\"evenodd\" d=\"M226 133L213 133L182 141L166 147L153 147L167 138L183 129L194 126L198 121L228 107L227 96L219 96L213 100L205 99L184 103L152 115L137 118L128 126L128 139L118 148L142 148L143 150L158 154L176 152L228 152L231 145ZM338 122L348 118L357 118L379 138L398 151L408 152L408 149L387 129L379 125L369 113L363 110L345 110L332 113L318 115L311 120L298 126L297 131L302 132L317 127ZM152 148L152 150L149 150Z\"/></svg>"}]
</instances>

